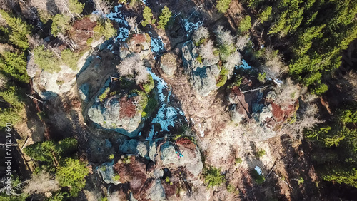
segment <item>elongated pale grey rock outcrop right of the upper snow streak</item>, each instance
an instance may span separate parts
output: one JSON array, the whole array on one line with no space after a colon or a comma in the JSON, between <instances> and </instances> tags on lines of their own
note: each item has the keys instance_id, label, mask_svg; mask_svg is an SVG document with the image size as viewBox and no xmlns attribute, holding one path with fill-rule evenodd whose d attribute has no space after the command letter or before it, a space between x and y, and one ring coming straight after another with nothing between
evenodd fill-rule
<instances>
[{"instance_id":1,"label":"elongated pale grey rock outcrop right of the upper snow streak","mask_svg":"<svg viewBox=\"0 0 357 201\"><path fill-rule=\"evenodd\" d=\"M208 96L211 91L216 90L216 80L219 76L219 68L216 65L217 61L200 62L196 58L197 49L192 42L186 42L182 47L183 66L189 75L189 81L193 88L201 96Z\"/></svg>"}]
</instances>

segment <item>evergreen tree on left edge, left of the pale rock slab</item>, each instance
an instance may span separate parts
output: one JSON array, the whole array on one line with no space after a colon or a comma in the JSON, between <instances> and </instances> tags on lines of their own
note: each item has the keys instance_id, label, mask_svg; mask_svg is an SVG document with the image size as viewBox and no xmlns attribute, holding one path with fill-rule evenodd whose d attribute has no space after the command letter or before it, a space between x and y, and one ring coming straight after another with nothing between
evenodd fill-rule
<instances>
[{"instance_id":1,"label":"evergreen tree on left edge, left of the pale rock slab","mask_svg":"<svg viewBox=\"0 0 357 201\"><path fill-rule=\"evenodd\" d=\"M29 76L26 73L26 57L24 53L12 53L5 51L1 53L0 69L9 76L17 80L29 83Z\"/></svg>"}]
</instances>

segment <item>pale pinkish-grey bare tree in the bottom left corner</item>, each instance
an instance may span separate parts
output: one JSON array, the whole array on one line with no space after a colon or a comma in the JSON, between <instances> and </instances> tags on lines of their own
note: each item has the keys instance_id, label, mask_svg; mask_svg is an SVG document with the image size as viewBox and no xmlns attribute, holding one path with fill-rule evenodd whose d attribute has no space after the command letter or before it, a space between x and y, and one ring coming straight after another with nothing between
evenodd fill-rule
<instances>
[{"instance_id":1,"label":"pale pinkish-grey bare tree in the bottom left corner","mask_svg":"<svg viewBox=\"0 0 357 201\"><path fill-rule=\"evenodd\" d=\"M32 175L31 180L24 187L24 192L28 194L40 194L59 190L59 182L52 177L49 172L42 171Z\"/></svg>"}]
</instances>

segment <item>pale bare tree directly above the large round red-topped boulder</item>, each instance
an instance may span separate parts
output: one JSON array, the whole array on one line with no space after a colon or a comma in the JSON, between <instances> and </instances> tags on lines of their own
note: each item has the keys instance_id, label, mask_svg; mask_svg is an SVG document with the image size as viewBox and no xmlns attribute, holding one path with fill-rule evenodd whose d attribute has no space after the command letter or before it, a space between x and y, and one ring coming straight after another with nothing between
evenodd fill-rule
<instances>
[{"instance_id":1,"label":"pale bare tree directly above the large round red-topped boulder","mask_svg":"<svg viewBox=\"0 0 357 201\"><path fill-rule=\"evenodd\" d=\"M139 54L124 58L124 60L116 66L116 69L121 76L135 76L135 81L138 84L148 80L149 73Z\"/></svg>"}]
</instances>

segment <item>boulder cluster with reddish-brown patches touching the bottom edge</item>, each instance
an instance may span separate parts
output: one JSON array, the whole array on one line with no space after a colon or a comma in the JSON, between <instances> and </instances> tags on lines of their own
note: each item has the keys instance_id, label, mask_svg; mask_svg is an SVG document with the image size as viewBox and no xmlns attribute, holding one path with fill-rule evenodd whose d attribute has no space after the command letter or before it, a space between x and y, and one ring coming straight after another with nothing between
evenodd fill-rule
<instances>
[{"instance_id":1,"label":"boulder cluster with reddish-brown patches touching the bottom edge","mask_svg":"<svg viewBox=\"0 0 357 201\"><path fill-rule=\"evenodd\" d=\"M178 157L178 150L183 157ZM96 170L108 184L129 183L137 200L166 200L176 196L177 189L185 193L188 183L197 180L203 169L198 147L183 138L172 142L124 140L119 142L119 153L125 155Z\"/></svg>"}]
</instances>

